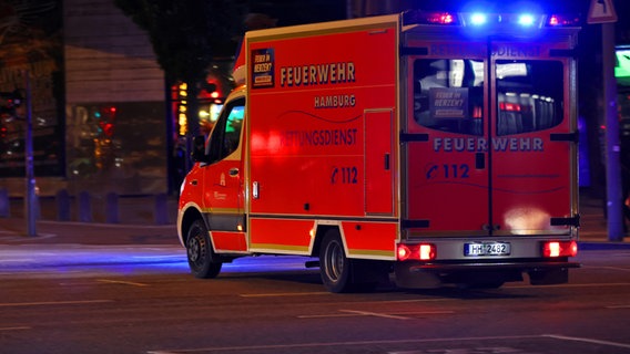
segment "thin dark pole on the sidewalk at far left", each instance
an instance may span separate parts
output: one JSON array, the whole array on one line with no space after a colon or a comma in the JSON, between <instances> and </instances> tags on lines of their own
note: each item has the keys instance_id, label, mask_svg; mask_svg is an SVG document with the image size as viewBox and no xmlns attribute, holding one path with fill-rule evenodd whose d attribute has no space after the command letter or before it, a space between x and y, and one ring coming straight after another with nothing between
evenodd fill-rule
<instances>
[{"instance_id":1,"label":"thin dark pole on the sidewalk at far left","mask_svg":"<svg viewBox=\"0 0 630 354\"><path fill-rule=\"evenodd\" d=\"M26 87L26 134L24 134L24 167L26 167L26 216L27 216L27 235L37 236L35 229L35 176L33 173L33 124L32 124L32 107L31 107L31 81L29 71L23 71L24 87Z\"/></svg>"}]
</instances>

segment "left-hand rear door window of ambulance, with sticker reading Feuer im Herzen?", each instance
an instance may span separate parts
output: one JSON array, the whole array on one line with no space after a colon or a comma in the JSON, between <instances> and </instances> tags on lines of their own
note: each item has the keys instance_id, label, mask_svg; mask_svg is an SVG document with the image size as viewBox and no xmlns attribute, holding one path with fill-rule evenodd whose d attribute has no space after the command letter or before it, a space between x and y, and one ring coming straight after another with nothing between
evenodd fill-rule
<instances>
[{"instance_id":1,"label":"left-hand rear door window of ambulance, with sticker reading Feuer im Herzen?","mask_svg":"<svg viewBox=\"0 0 630 354\"><path fill-rule=\"evenodd\" d=\"M431 129L484 135L484 62L414 62L414 119Z\"/></svg>"}]
</instances>

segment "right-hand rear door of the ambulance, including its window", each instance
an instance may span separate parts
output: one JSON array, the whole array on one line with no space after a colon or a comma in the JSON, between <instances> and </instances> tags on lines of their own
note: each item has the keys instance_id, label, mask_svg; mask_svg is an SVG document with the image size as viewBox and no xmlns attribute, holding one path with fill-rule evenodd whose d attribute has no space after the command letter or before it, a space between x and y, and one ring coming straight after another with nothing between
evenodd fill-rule
<instances>
[{"instance_id":1,"label":"right-hand rear door of the ambulance, including its window","mask_svg":"<svg viewBox=\"0 0 630 354\"><path fill-rule=\"evenodd\" d=\"M578 226L571 178L577 127L569 90L575 66L557 45L492 44L488 148L495 235L561 235Z\"/></svg>"}]
</instances>

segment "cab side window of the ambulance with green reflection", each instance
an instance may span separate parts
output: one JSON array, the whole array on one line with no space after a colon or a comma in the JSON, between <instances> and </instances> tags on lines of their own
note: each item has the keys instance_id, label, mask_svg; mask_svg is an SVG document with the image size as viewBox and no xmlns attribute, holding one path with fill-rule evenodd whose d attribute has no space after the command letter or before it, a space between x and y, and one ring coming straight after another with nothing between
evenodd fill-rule
<instances>
[{"instance_id":1,"label":"cab side window of the ambulance with green reflection","mask_svg":"<svg viewBox=\"0 0 630 354\"><path fill-rule=\"evenodd\" d=\"M245 98L231 102L222 111L206 147L211 164L224 159L238 148L244 115Z\"/></svg>"}]
</instances>

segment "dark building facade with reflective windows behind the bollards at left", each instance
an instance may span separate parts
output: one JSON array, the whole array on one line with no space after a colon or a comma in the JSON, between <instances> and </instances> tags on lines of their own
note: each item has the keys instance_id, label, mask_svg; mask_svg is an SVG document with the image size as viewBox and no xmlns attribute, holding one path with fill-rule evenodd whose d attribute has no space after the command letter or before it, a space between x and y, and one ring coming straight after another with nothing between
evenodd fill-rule
<instances>
[{"instance_id":1,"label":"dark building facade with reflective windows behind the bollards at left","mask_svg":"<svg viewBox=\"0 0 630 354\"><path fill-rule=\"evenodd\" d=\"M166 192L164 74L146 34L111 0L11 1L0 15L0 90L26 94L29 76L39 194ZM11 196L24 190L23 106L17 116L1 121Z\"/></svg>"}]
</instances>

